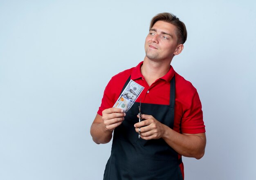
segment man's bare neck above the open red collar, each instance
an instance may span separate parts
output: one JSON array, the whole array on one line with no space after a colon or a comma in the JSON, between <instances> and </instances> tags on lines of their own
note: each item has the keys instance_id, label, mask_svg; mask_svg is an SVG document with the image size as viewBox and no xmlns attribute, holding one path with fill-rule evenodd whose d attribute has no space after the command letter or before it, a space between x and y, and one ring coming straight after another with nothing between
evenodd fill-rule
<instances>
[{"instance_id":1,"label":"man's bare neck above the open red collar","mask_svg":"<svg viewBox=\"0 0 256 180\"><path fill-rule=\"evenodd\" d=\"M144 58L141 74L150 86L155 80L163 77L170 70L171 60L150 60Z\"/></svg>"}]
</instances>

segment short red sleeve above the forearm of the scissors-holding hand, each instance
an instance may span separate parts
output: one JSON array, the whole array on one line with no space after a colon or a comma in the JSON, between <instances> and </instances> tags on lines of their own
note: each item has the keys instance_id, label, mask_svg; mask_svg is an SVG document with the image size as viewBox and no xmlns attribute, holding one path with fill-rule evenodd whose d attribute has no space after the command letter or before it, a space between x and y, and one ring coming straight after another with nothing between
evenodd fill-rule
<instances>
[{"instance_id":1,"label":"short red sleeve above the forearm of the scissors-holding hand","mask_svg":"<svg viewBox=\"0 0 256 180\"><path fill-rule=\"evenodd\" d=\"M190 107L184 111L181 121L182 133L196 134L205 132L202 104L196 90L191 99Z\"/></svg>"}]
</instances>

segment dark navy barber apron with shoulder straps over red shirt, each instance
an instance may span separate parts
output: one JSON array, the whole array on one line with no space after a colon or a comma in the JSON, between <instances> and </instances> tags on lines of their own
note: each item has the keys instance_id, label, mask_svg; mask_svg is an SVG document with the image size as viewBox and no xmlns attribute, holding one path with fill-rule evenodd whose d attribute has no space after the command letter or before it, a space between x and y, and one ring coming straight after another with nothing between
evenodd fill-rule
<instances>
[{"instance_id":1,"label":"dark navy barber apron with shoulder straps over red shirt","mask_svg":"<svg viewBox=\"0 0 256 180\"><path fill-rule=\"evenodd\" d=\"M130 81L126 81L122 91ZM121 92L122 92L121 91ZM173 129L175 77L171 80L170 104L141 103L141 113L152 115ZM162 138L138 138L134 124L139 122L139 103L135 102L119 127L115 128L110 158L103 180L183 180L181 158Z\"/></svg>"}]
</instances>

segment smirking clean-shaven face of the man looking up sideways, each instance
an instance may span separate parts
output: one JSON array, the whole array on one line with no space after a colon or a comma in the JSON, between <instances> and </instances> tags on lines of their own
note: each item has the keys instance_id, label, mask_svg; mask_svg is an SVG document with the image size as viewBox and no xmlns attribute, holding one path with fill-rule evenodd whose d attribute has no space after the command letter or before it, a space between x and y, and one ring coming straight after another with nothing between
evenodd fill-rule
<instances>
[{"instance_id":1,"label":"smirking clean-shaven face of the man looking up sideways","mask_svg":"<svg viewBox=\"0 0 256 180\"><path fill-rule=\"evenodd\" d=\"M172 59L176 55L176 27L168 22L157 21L145 40L146 56L152 60Z\"/></svg>"}]
</instances>

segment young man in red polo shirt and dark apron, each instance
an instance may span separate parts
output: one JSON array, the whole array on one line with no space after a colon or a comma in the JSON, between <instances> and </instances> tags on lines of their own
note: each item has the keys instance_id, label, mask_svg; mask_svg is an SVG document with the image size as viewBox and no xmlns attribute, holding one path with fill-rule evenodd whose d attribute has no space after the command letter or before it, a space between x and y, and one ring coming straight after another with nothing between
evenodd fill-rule
<instances>
[{"instance_id":1,"label":"young man in red polo shirt and dark apron","mask_svg":"<svg viewBox=\"0 0 256 180\"><path fill-rule=\"evenodd\" d=\"M204 155L206 136L198 93L170 65L182 52L186 36L179 18L157 14L146 37L144 61L108 83L91 127L97 144L110 142L115 129L104 180L182 180L181 156L200 159ZM124 113L112 107L130 79L145 88ZM143 121L138 122L140 101Z\"/></svg>"}]
</instances>

